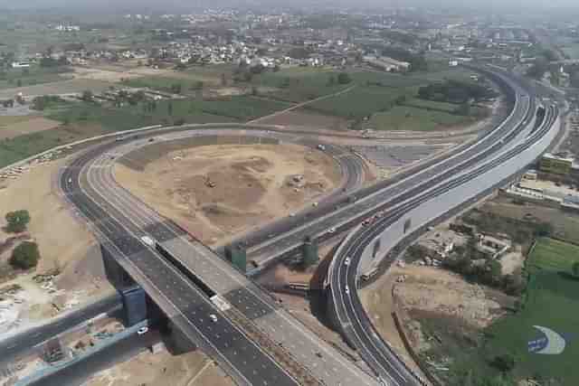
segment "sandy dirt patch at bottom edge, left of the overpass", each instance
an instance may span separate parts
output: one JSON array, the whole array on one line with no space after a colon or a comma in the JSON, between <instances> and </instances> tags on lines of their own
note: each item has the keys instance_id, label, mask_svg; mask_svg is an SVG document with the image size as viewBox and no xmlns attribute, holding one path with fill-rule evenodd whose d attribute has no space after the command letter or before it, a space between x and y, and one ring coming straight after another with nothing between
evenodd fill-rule
<instances>
[{"instance_id":1,"label":"sandy dirt patch at bottom edge, left of the overpass","mask_svg":"<svg viewBox=\"0 0 579 386\"><path fill-rule=\"evenodd\" d=\"M170 381L169 381L170 380ZM208 357L196 351L172 355L141 353L128 362L100 372L85 386L233 386L233 381Z\"/></svg>"}]
</instances>

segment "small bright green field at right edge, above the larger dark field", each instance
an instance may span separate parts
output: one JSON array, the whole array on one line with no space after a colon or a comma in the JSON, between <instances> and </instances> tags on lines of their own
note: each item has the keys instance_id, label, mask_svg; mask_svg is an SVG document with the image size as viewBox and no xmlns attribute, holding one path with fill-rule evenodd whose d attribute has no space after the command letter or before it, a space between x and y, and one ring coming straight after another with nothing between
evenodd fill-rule
<instances>
[{"instance_id":1,"label":"small bright green field at right edge, above the larger dark field","mask_svg":"<svg viewBox=\"0 0 579 386\"><path fill-rule=\"evenodd\" d=\"M527 259L527 268L570 272L579 261L579 247L564 241L541 238Z\"/></svg>"}]
</instances>

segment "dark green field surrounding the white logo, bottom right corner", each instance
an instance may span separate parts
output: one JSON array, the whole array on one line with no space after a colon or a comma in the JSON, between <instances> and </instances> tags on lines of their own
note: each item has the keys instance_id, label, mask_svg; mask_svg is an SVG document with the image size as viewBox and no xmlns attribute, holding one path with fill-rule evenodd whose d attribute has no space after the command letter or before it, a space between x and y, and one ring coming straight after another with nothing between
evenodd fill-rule
<instances>
[{"instance_id":1,"label":"dark green field surrounding the white logo, bottom right corner","mask_svg":"<svg viewBox=\"0 0 579 386\"><path fill-rule=\"evenodd\" d=\"M518 377L540 376L554 385L579 384L579 344L567 341L558 355L529 353L527 343L542 334L534 325L545 326L557 334L574 334L579 325L579 281L557 272L543 270L533 274L527 286L527 301L522 310L489 327L485 351L489 358L510 353L517 358L514 372Z\"/></svg>"}]
</instances>

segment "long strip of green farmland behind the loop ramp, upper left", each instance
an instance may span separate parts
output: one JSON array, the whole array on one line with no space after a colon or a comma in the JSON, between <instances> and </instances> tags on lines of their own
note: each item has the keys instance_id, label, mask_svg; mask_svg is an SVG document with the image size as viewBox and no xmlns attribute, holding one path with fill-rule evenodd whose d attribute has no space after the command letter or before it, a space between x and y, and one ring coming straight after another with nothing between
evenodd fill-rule
<instances>
[{"instance_id":1,"label":"long strip of green farmland behind the loop ramp, upper left","mask_svg":"<svg viewBox=\"0 0 579 386\"><path fill-rule=\"evenodd\" d=\"M169 108L169 105L172 107ZM184 124L243 122L269 115L288 106L278 101L251 97L206 101L164 100L157 103L157 108L153 112L143 110L142 106L105 108L90 103L72 103L46 112L47 118L62 122L62 126L0 140L0 167L54 146L116 131L176 122Z\"/></svg>"}]
</instances>

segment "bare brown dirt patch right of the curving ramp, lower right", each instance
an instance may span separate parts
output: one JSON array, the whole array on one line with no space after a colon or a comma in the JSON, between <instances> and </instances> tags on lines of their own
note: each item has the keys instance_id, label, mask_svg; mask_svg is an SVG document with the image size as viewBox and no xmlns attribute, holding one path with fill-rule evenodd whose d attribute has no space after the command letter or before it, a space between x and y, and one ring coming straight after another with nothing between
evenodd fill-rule
<instances>
[{"instance_id":1,"label":"bare brown dirt patch right of the curving ramp, lower right","mask_svg":"<svg viewBox=\"0 0 579 386\"><path fill-rule=\"evenodd\" d=\"M404 282L397 283L397 279L403 276ZM360 295L378 332L408 363L413 361L394 325L394 310L402 309L403 313L399 315L403 317L408 312L420 311L458 318L466 325L481 328L503 314L501 304L506 297L489 288L472 285L441 268L413 265L392 267L382 278L365 287ZM417 322L420 321L405 320L403 323L414 348L422 351L427 349L427 343Z\"/></svg>"}]
</instances>

